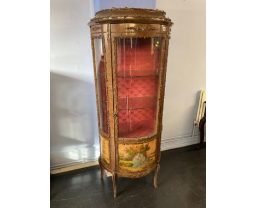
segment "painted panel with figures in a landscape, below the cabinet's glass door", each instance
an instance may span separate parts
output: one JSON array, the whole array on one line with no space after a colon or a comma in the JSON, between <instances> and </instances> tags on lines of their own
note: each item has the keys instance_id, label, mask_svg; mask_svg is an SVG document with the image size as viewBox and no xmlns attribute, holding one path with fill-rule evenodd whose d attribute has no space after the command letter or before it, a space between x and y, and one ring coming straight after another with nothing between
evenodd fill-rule
<instances>
[{"instance_id":1,"label":"painted panel with figures in a landscape, below the cabinet's glass door","mask_svg":"<svg viewBox=\"0 0 256 208\"><path fill-rule=\"evenodd\" d=\"M141 171L155 163L156 139L142 144L119 144L119 171Z\"/></svg>"}]
</instances>

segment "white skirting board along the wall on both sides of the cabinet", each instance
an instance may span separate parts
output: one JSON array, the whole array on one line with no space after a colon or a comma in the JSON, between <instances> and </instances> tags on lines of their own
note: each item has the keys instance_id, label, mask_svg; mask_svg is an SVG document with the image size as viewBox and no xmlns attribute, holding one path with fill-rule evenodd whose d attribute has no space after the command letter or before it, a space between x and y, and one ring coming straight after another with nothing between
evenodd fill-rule
<instances>
[{"instance_id":1,"label":"white skirting board along the wall on both sides of the cabinet","mask_svg":"<svg viewBox=\"0 0 256 208\"><path fill-rule=\"evenodd\" d=\"M181 148L183 146L189 146L193 144L198 144L200 142L200 136L199 133L195 134L194 137L191 137L191 134L179 136L179 137L173 137L173 138L167 138L162 139L161 141L161 151L175 149L175 148ZM205 135L205 142L206 142L206 135ZM89 166L96 166L98 165L98 161L93 162L86 162L86 163L74 163L67 167L60 167L50 170L50 174L57 174L57 173L63 173L68 172L75 169L85 168ZM111 176L112 174L109 172L105 172L107 176Z\"/></svg>"}]
</instances>

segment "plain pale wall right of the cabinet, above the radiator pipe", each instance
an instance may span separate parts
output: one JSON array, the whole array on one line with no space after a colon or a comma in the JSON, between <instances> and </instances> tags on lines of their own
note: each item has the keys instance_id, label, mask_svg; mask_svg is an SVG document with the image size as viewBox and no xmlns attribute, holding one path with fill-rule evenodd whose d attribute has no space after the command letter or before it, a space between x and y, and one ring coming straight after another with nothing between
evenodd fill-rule
<instances>
[{"instance_id":1,"label":"plain pale wall right of the cabinet, above the radiator pipe","mask_svg":"<svg viewBox=\"0 0 256 208\"><path fill-rule=\"evenodd\" d=\"M206 88L206 1L156 0L156 9L166 11L174 22L167 62L164 140L191 134L198 91Z\"/></svg>"}]
</instances>

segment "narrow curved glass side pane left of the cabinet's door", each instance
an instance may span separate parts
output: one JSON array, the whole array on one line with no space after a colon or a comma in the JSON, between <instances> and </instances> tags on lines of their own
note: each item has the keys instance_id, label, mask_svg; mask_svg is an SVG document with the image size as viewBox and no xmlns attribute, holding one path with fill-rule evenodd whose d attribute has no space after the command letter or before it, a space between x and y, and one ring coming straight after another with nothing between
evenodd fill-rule
<instances>
[{"instance_id":1,"label":"narrow curved glass side pane left of the cabinet's door","mask_svg":"<svg viewBox=\"0 0 256 208\"><path fill-rule=\"evenodd\" d=\"M102 38L94 38L94 51L98 88L97 93L100 129L108 133L106 71L104 62L104 40Z\"/></svg>"}]
</instances>

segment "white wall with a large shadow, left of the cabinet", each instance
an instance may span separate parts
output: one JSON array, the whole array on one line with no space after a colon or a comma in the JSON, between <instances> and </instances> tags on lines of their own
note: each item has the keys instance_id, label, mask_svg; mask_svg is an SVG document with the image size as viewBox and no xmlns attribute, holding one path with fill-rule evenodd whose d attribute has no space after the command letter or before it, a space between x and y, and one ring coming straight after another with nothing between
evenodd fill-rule
<instances>
[{"instance_id":1,"label":"white wall with a large shadow, left of the cabinet","mask_svg":"<svg viewBox=\"0 0 256 208\"><path fill-rule=\"evenodd\" d=\"M90 28L92 1L50 1L50 164L99 154ZM40 110L40 109L39 109Z\"/></svg>"}]
</instances>

